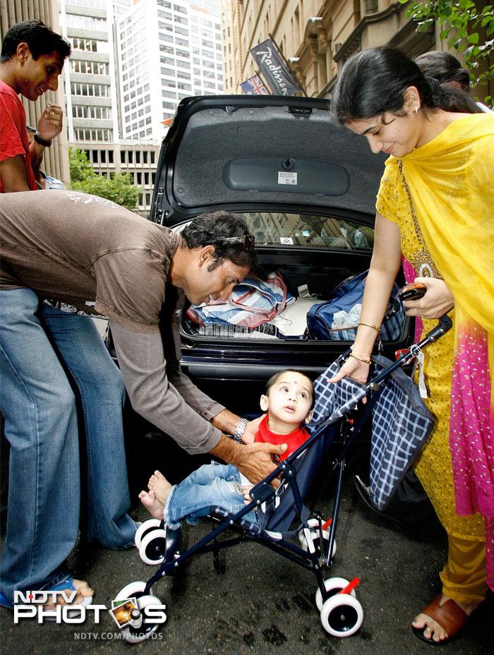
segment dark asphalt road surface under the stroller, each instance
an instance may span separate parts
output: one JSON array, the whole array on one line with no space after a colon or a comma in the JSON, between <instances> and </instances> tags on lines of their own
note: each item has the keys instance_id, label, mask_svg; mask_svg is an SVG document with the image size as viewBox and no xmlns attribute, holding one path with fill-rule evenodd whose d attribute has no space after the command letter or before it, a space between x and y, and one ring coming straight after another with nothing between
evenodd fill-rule
<instances>
[{"instance_id":1,"label":"dark asphalt road surface under the stroller","mask_svg":"<svg viewBox=\"0 0 494 655\"><path fill-rule=\"evenodd\" d=\"M322 510L330 512L330 500ZM133 514L145 518L138 507ZM189 543L205 534L206 524L189 529ZM364 507L350 479L344 487L332 575L361 584L357 597L364 619L361 630L346 639L330 637L315 608L315 578L267 548L243 543L227 551L227 569L218 575L212 555L191 561L179 577L153 587L167 606L167 622L154 639L137 645L118 641L119 630L106 611L99 624L38 625L35 620L13 624L0 609L1 651L5 654L68 655L91 650L97 654L380 654L419 655L430 650L411 632L409 622L438 593L438 570L445 559L446 540L436 524L414 536L399 532ZM96 589L95 603L111 606L128 582L145 580L155 571L143 564L135 549L106 551L78 546L71 556L76 577ZM492 652L494 600L474 613L462 634L441 647L445 654Z\"/></svg>"}]
</instances>

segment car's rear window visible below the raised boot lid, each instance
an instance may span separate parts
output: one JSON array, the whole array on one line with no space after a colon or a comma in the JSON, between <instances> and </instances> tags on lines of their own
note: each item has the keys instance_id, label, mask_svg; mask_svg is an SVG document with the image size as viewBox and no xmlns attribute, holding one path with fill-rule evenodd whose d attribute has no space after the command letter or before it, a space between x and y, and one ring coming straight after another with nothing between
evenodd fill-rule
<instances>
[{"instance_id":1,"label":"car's rear window visible below the raised boot lid","mask_svg":"<svg viewBox=\"0 0 494 655\"><path fill-rule=\"evenodd\" d=\"M307 246L369 250L374 230L358 221L286 212L236 212L255 236L256 246Z\"/></svg>"}]
</instances>

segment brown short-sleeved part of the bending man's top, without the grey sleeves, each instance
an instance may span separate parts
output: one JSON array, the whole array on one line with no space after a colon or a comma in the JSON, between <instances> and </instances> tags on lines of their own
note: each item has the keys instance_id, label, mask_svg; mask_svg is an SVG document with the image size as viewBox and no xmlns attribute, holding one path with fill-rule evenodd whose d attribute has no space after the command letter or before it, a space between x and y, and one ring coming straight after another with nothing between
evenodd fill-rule
<instances>
[{"instance_id":1,"label":"brown short-sleeved part of the bending man's top, without the grey sleeves","mask_svg":"<svg viewBox=\"0 0 494 655\"><path fill-rule=\"evenodd\" d=\"M176 238L110 200L77 191L0 198L0 287L158 332Z\"/></svg>"}]
</instances>

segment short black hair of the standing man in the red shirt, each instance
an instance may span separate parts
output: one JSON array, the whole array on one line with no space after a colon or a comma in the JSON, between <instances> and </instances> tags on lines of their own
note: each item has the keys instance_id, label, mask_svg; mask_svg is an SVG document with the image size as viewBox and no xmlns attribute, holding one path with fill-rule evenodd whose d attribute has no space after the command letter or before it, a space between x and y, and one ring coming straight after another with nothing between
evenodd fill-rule
<instances>
[{"instance_id":1,"label":"short black hair of the standing man in the red shirt","mask_svg":"<svg viewBox=\"0 0 494 655\"><path fill-rule=\"evenodd\" d=\"M58 52L64 59L71 54L71 44L41 20L23 20L13 25L1 44L0 61L12 59L20 43L28 44L32 59L52 52Z\"/></svg>"}]
</instances>

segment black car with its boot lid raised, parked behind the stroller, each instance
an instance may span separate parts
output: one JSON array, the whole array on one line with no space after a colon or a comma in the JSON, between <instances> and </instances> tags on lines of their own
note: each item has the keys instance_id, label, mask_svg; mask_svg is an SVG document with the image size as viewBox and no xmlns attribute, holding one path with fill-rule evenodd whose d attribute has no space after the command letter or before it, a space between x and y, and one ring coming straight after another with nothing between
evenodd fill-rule
<instances>
[{"instance_id":1,"label":"black car with its boot lid raised, parked behind the stroller","mask_svg":"<svg viewBox=\"0 0 494 655\"><path fill-rule=\"evenodd\" d=\"M323 301L370 264L384 160L335 124L326 100L186 98L159 155L151 219L180 230L201 212L240 212L266 270L281 272L294 296L306 285ZM179 331L183 371L212 397L227 397L229 407L238 389L237 411L248 410L243 399L250 403L275 371L291 367L315 377L349 347L307 335L200 336L185 313ZM406 319L385 354L410 338Z\"/></svg>"}]
</instances>

